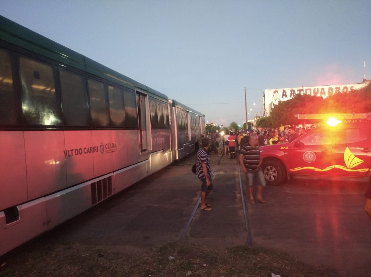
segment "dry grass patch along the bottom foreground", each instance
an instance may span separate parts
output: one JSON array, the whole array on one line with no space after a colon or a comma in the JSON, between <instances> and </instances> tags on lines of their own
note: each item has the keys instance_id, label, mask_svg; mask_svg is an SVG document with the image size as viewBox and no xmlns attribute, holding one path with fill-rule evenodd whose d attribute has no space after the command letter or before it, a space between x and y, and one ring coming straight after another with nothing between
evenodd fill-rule
<instances>
[{"instance_id":1,"label":"dry grass patch along the bottom foreground","mask_svg":"<svg viewBox=\"0 0 371 277\"><path fill-rule=\"evenodd\" d=\"M175 259L169 260L173 256ZM0 276L336 276L329 269L306 266L286 254L239 246L207 248L187 242L156 246L139 255L79 244L27 244L3 257Z\"/></svg>"}]
</instances>

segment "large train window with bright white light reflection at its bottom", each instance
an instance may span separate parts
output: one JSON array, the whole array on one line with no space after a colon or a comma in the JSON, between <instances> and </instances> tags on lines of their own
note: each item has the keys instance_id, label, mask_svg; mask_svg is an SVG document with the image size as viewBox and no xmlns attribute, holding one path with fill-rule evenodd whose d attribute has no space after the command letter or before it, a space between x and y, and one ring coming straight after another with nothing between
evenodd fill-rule
<instances>
[{"instance_id":1,"label":"large train window with bright white light reflection at its bottom","mask_svg":"<svg viewBox=\"0 0 371 277\"><path fill-rule=\"evenodd\" d=\"M37 125L62 124L52 66L23 56L20 57L19 64L25 121Z\"/></svg>"}]
</instances>

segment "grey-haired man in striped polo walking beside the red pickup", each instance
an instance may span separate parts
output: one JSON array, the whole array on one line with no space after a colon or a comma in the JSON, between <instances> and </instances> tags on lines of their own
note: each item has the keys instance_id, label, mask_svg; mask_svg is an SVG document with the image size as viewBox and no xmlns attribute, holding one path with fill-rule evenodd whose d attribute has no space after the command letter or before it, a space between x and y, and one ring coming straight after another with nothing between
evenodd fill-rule
<instances>
[{"instance_id":1,"label":"grey-haired man in striped polo walking beside the red pickup","mask_svg":"<svg viewBox=\"0 0 371 277\"><path fill-rule=\"evenodd\" d=\"M256 134L250 134L249 142L241 146L239 159L241 169L246 174L250 193L250 203L255 204L253 196L254 178L258 181L256 200L260 203L266 203L262 197L263 187L266 185L262 168L260 168L263 160L260 156L259 139Z\"/></svg>"}]
</instances>

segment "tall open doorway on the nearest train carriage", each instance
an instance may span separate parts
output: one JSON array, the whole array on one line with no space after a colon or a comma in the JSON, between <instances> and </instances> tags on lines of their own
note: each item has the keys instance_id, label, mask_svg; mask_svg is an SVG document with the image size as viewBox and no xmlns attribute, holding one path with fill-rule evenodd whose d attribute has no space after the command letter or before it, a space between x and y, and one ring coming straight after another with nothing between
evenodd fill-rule
<instances>
[{"instance_id":1,"label":"tall open doorway on the nearest train carriage","mask_svg":"<svg viewBox=\"0 0 371 277\"><path fill-rule=\"evenodd\" d=\"M141 152L151 150L151 125L150 112L148 106L148 96L145 93L136 92L137 109L139 121L139 141Z\"/></svg>"}]
</instances>

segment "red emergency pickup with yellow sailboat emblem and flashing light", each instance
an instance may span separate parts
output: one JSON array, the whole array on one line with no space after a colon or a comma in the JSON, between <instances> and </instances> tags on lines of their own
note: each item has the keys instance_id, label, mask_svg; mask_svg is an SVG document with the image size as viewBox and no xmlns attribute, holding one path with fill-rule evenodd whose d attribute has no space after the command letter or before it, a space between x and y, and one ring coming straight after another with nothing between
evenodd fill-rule
<instances>
[{"instance_id":1,"label":"red emergency pickup with yellow sailboat emblem and flashing light","mask_svg":"<svg viewBox=\"0 0 371 277\"><path fill-rule=\"evenodd\" d=\"M276 186L295 175L331 180L370 179L371 113L297 116L303 123L327 121L290 143L260 147L267 184Z\"/></svg>"}]
</instances>

